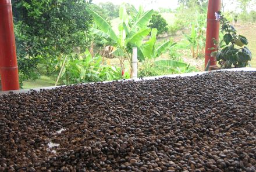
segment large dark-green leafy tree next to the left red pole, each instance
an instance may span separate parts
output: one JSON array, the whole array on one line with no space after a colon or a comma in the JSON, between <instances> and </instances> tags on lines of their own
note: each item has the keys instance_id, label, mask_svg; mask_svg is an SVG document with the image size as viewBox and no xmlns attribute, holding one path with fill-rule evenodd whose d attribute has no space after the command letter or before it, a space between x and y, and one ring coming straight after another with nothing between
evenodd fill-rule
<instances>
[{"instance_id":1,"label":"large dark-green leafy tree next to the left red pole","mask_svg":"<svg viewBox=\"0 0 256 172\"><path fill-rule=\"evenodd\" d=\"M56 60L85 49L92 17L83 0L13 0L20 82L39 76L38 64L51 72Z\"/></svg>"}]
</instances>

